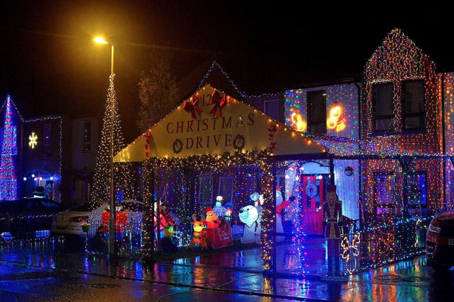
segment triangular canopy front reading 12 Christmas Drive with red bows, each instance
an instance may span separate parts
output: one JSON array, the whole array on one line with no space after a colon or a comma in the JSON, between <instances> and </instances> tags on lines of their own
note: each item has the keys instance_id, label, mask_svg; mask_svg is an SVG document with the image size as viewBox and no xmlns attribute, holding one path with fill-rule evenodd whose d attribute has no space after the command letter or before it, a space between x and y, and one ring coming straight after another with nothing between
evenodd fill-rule
<instances>
[{"instance_id":1,"label":"triangular canopy front reading 12 Christmas Drive with red bows","mask_svg":"<svg viewBox=\"0 0 454 302\"><path fill-rule=\"evenodd\" d=\"M269 150L270 155L328 149L255 108L206 85L114 156L114 162Z\"/></svg>"}]
</instances>

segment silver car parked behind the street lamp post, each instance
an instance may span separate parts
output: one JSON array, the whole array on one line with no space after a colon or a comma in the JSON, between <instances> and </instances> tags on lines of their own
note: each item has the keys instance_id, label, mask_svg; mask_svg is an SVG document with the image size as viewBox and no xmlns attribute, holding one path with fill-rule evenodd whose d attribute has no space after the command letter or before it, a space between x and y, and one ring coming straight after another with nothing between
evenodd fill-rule
<instances>
[{"instance_id":1,"label":"silver car parked behind the street lamp post","mask_svg":"<svg viewBox=\"0 0 454 302\"><path fill-rule=\"evenodd\" d=\"M131 219L141 219L143 202L123 200L116 203L116 225L125 226ZM93 237L96 231L108 231L109 202L85 202L62 211L55 216L52 234L74 235L81 238Z\"/></svg>"}]
</instances>

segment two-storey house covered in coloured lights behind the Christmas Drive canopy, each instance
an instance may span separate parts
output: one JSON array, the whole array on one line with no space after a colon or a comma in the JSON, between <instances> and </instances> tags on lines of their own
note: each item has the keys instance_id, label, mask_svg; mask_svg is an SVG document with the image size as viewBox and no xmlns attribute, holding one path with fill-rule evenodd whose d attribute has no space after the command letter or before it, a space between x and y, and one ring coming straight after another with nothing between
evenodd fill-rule
<instances>
[{"instance_id":1,"label":"two-storey house covered in coloured lights behind the Christmas Drive canopy","mask_svg":"<svg viewBox=\"0 0 454 302\"><path fill-rule=\"evenodd\" d=\"M311 196L323 194L323 175L331 171L343 214L365 225L452 208L452 86L452 73L438 72L402 30L393 29L365 64L362 79L307 85L253 100L268 115L281 117L283 111L287 125L333 156L332 166L318 160L299 167L306 233L320 233ZM282 176L292 179L288 173ZM306 190L317 178L323 180L317 190Z\"/></svg>"}]
</instances>

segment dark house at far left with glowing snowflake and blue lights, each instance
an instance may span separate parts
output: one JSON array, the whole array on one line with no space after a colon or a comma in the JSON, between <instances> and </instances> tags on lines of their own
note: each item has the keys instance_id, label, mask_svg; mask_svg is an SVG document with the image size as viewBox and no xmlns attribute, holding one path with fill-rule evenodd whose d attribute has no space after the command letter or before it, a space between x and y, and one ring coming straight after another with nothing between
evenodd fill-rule
<instances>
[{"instance_id":1,"label":"dark house at far left with glowing snowflake and blue lights","mask_svg":"<svg viewBox=\"0 0 454 302\"><path fill-rule=\"evenodd\" d=\"M36 195L65 206L88 201L97 150L95 119L26 119L7 95L0 121L0 200Z\"/></svg>"}]
</instances>

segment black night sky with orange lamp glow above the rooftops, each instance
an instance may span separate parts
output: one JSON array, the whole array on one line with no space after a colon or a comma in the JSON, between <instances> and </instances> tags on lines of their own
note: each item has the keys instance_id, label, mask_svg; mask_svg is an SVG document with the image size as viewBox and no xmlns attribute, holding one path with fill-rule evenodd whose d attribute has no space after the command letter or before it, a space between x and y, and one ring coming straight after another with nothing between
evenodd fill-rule
<instances>
[{"instance_id":1,"label":"black night sky with orange lamp glow above the rooftops","mask_svg":"<svg viewBox=\"0 0 454 302\"><path fill-rule=\"evenodd\" d=\"M447 9L249 2L3 0L1 98L11 95L25 118L101 118L111 55L110 47L91 41L96 34L116 44L125 124L135 123L140 72L163 47L172 50L177 80L214 54L238 88L252 94L358 76L392 28L401 28L439 71L454 70Z\"/></svg>"}]
</instances>

